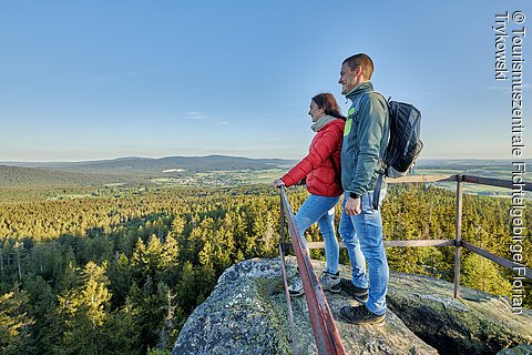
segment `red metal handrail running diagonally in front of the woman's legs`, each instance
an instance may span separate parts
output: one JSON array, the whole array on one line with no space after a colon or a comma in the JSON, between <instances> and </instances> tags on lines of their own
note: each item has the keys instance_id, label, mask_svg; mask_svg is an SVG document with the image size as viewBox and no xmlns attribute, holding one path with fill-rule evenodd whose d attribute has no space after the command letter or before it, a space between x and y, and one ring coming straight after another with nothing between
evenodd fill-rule
<instances>
[{"instance_id":1,"label":"red metal handrail running diagonally in front of the woman's legs","mask_svg":"<svg viewBox=\"0 0 532 355\"><path fill-rule=\"evenodd\" d=\"M338 335L338 329L336 328L332 314L330 312L329 305L327 304L327 298L324 295L321 285L318 282L318 277L314 272L310 256L308 255L306 248L303 246L303 234L298 231L297 225L294 222L294 213L291 211L290 204L286 196L286 191L284 186L280 186L280 201L282 201L282 211L284 211L286 221L288 224L288 231L294 241L294 250L296 252L297 265L299 267L299 274L303 282L303 288L305 290L305 296L308 306L308 315L310 317L310 323L313 325L314 337L316 338L316 345L318 347L318 354L323 355L344 355L346 351L341 344L340 337ZM282 217L283 220L283 217ZM284 222L282 222L284 240ZM284 270L284 252L283 252L283 242L279 245L280 257ZM286 283L286 273L283 273L285 292L287 291ZM289 296L288 296L289 297ZM289 298L288 298L289 300ZM289 306L290 314L290 324L291 321L291 306ZM293 346L295 346L295 352L297 353L297 346L295 345L295 335L293 328Z\"/></svg>"}]
</instances>

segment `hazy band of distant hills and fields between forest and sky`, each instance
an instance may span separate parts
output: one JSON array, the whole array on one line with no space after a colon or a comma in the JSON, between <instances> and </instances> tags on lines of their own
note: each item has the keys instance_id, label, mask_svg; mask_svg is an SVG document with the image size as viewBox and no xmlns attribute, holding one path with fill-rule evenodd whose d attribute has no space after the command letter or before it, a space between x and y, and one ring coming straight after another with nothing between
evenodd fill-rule
<instances>
[{"instance_id":1,"label":"hazy band of distant hills and fields between forest and sky","mask_svg":"<svg viewBox=\"0 0 532 355\"><path fill-rule=\"evenodd\" d=\"M195 173L219 171L264 171L291 168L296 161L241 156L119 158L83 162L0 162L0 186L101 185L150 182L153 178L186 178ZM525 160L532 166L532 161ZM418 174L464 173L509 179L511 161L502 160L420 160Z\"/></svg>"}]
</instances>

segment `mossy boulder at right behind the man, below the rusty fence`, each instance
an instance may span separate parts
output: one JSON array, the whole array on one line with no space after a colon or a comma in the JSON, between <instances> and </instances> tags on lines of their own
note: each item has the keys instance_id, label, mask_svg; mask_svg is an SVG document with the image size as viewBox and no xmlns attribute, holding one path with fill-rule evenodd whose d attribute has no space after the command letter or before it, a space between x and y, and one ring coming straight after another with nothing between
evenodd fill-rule
<instances>
[{"instance_id":1,"label":"mossy boulder at right behind the man, below the rusty fence","mask_svg":"<svg viewBox=\"0 0 532 355\"><path fill-rule=\"evenodd\" d=\"M392 273L388 305L407 326L440 354L495 354L532 344L532 312L513 314L505 297L460 287L443 280Z\"/></svg>"}]
</instances>

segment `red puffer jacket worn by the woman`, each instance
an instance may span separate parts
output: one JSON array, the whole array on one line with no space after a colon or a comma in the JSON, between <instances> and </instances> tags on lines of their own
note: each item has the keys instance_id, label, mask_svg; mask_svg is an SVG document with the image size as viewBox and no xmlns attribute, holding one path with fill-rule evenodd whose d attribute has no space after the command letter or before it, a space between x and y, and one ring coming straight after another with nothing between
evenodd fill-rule
<instances>
[{"instance_id":1,"label":"red puffer jacket worn by the woman","mask_svg":"<svg viewBox=\"0 0 532 355\"><path fill-rule=\"evenodd\" d=\"M342 194L341 179L338 174L341 171L344 124L344 120L337 119L316 133L308 155L282 178L286 186L295 185L307 178L307 190L311 194L320 196Z\"/></svg>"}]
</instances>

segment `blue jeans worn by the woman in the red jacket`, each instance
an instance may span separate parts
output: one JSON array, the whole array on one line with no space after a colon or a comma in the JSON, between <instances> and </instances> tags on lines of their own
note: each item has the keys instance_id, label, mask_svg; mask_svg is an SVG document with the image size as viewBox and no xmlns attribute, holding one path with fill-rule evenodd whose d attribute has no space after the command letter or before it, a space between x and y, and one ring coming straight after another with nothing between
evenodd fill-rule
<instances>
[{"instance_id":1,"label":"blue jeans worn by the woman in the red jacket","mask_svg":"<svg viewBox=\"0 0 532 355\"><path fill-rule=\"evenodd\" d=\"M327 272L336 274L338 272L339 248L335 233L335 206L340 201L340 196L319 196L310 194L297 211L294 221L296 226L305 235L305 231L318 222L319 230L325 242L325 257L327 260ZM310 255L308 244L305 239L304 246Z\"/></svg>"}]
</instances>

